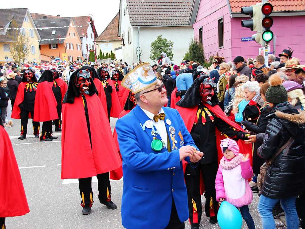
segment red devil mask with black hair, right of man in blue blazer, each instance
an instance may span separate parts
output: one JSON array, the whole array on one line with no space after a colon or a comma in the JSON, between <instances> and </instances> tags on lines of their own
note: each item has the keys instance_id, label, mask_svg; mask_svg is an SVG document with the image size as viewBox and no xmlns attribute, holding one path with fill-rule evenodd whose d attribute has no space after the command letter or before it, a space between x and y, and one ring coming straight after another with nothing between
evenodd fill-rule
<instances>
[{"instance_id":1,"label":"red devil mask with black hair, right of man in blue blazer","mask_svg":"<svg viewBox=\"0 0 305 229\"><path fill-rule=\"evenodd\" d=\"M194 107L200 103L208 103L212 106L218 104L218 98L214 91L216 83L208 76L200 74L192 86L186 91L183 99L176 104L180 107Z\"/></svg>"}]
</instances>

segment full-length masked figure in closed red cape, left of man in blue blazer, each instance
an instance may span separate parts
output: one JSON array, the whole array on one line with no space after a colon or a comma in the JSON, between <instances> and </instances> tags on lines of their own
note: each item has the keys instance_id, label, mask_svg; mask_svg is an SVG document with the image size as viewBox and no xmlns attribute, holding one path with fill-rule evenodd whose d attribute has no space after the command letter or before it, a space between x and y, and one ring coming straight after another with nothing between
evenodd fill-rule
<instances>
[{"instance_id":1,"label":"full-length masked figure in closed red cape, left of man in blue blazer","mask_svg":"<svg viewBox=\"0 0 305 229\"><path fill-rule=\"evenodd\" d=\"M83 215L91 213L92 176L98 179L99 202L117 208L111 201L109 171L122 166L96 93L90 71L79 69L71 75L63 100L61 179L78 178Z\"/></svg>"}]
</instances>

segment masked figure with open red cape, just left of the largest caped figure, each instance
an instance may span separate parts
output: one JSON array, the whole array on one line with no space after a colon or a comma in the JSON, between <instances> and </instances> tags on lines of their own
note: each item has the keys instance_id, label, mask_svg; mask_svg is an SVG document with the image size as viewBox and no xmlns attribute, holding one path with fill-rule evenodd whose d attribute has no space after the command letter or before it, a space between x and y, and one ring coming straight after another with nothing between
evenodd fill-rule
<instances>
[{"instance_id":1,"label":"masked figure with open red cape, just left of the largest caped figure","mask_svg":"<svg viewBox=\"0 0 305 229\"><path fill-rule=\"evenodd\" d=\"M58 118L55 120L55 131L61 131L61 108L63 102L63 96L67 91L68 85L63 81L63 79L59 78L59 73L55 69L51 69L53 74L54 85L52 86L52 91L56 98L57 106L57 114Z\"/></svg>"}]
</instances>

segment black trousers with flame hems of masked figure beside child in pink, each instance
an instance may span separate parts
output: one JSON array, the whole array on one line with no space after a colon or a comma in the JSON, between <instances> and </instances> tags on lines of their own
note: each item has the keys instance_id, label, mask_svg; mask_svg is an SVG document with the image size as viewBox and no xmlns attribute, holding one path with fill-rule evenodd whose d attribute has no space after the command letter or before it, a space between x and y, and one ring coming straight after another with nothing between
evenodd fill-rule
<instances>
[{"instance_id":1,"label":"black trousers with flame hems of masked figure beside child in pink","mask_svg":"<svg viewBox=\"0 0 305 229\"><path fill-rule=\"evenodd\" d=\"M188 210L191 224L200 224L202 215L200 195L200 173L205 186L204 197L206 203L204 210L207 217L217 216L219 203L216 201L215 180L218 170L218 163L199 164L196 169L187 165L185 170L185 185L188 192Z\"/></svg>"}]
</instances>

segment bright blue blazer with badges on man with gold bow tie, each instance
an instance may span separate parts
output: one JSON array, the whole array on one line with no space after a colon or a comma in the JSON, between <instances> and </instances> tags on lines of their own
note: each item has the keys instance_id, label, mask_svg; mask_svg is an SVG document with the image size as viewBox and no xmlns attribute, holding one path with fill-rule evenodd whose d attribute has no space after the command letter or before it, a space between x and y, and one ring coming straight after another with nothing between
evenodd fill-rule
<instances>
[{"instance_id":1,"label":"bright blue blazer with badges on man with gold bow tie","mask_svg":"<svg viewBox=\"0 0 305 229\"><path fill-rule=\"evenodd\" d=\"M167 148L159 152L152 149L152 129L142 127L150 119L139 105L116 124L124 174L122 224L128 229L165 228L170 220L173 199L180 221L188 219L188 198L179 148L196 145L178 111L169 107L163 107L163 110L171 152ZM174 127L175 134L170 133L169 127ZM156 137L161 140L159 134ZM185 159L189 162L189 158Z\"/></svg>"}]
</instances>

